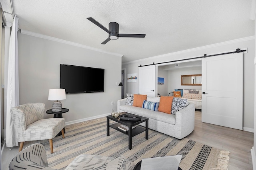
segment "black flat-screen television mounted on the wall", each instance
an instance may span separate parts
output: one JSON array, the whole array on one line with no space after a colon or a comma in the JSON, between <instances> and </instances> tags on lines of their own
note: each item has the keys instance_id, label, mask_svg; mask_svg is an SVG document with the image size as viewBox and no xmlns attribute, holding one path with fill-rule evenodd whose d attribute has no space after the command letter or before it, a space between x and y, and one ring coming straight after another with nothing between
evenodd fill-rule
<instances>
[{"instance_id":1,"label":"black flat-screen television mounted on the wall","mask_svg":"<svg viewBox=\"0 0 256 170\"><path fill-rule=\"evenodd\" d=\"M66 94L104 92L103 68L60 64L60 88Z\"/></svg>"}]
</instances>

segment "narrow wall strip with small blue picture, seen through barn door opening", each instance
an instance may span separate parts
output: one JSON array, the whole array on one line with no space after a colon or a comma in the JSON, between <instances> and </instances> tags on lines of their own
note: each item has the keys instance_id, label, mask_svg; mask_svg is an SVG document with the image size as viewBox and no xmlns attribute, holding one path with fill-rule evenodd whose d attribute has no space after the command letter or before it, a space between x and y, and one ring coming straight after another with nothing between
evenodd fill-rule
<instances>
[{"instance_id":1,"label":"narrow wall strip with small blue picture, seen through barn door opening","mask_svg":"<svg viewBox=\"0 0 256 170\"><path fill-rule=\"evenodd\" d=\"M157 85L157 93L159 93L161 96L168 96L168 71L158 67L158 77L164 78L164 84Z\"/></svg>"}]
</instances>

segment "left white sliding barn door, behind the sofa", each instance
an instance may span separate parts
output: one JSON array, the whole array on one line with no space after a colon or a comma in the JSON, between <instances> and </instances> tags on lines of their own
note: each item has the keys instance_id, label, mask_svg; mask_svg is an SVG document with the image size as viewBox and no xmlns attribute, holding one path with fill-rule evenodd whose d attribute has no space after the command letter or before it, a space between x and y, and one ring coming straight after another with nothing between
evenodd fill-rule
<instances>
[{"instance_id":1,"label":"left white sliding barn door, behind the sofa","mask_svg":"<svg viewBox=\"0 0 256 170\"><path fill-rule=\"evenodd\" d=\"M139 68L139 94L147 94L148 97L156 96L156 75L155 65Z\"/></svg>"}]
</instances>

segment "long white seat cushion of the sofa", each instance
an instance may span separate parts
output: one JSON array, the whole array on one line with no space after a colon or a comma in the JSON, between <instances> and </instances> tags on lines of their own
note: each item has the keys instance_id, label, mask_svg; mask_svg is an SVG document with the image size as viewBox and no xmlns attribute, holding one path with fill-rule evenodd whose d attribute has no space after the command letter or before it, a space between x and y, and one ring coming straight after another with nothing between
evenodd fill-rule
<instances>
[{"instance_id":1,"label":"long white seat cushion of the sofa","mask_svg":"<svg viewBox=\"0 0 256 170\"><path fill-rule=\"evenodd\" d=\"M157 121L162 121L165 123L175 125L175 115L166 114L164 112L160 112L159 110L158 112L156 112L149 109L143 109L142 107L134 107L127 105L122 105L119 107L119 109L135 115L148 117L150 119L155 119Z\"/></svg>"}]
</instances>

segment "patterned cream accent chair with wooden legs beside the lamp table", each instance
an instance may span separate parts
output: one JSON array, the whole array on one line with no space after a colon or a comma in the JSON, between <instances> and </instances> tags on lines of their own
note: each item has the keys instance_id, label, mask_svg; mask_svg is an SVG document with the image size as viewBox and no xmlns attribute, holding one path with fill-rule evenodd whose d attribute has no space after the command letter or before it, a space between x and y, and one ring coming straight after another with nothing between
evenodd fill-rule
<instances>
[{"instance_id":1,"label":"patterned cream accent chair with wooden legs beside the lamp table","mask_svg":"<svg viewBox=\"0 0 256 170\"><path fill-rule=\"evenodd\" d=\"M52 139L61 131L64 138L64 118L44 119L45 105L43 103L24 104L10 109L14 130L18 142L19 152L25 141L39 141L49 139L51 153L53 153Z\"/></svg>"}]
</instances>

